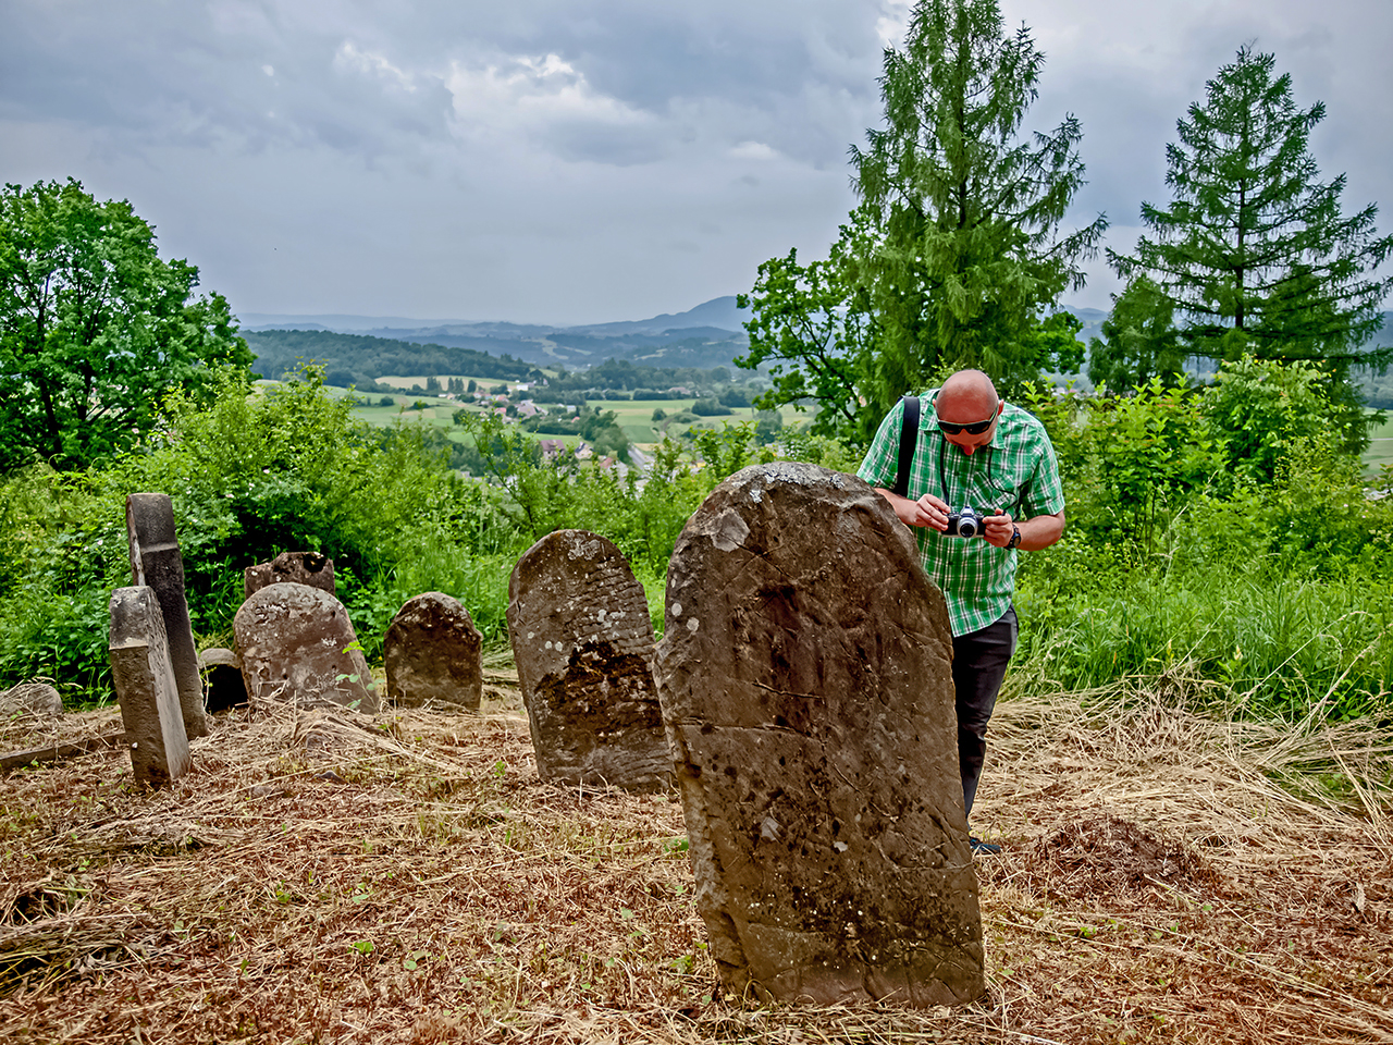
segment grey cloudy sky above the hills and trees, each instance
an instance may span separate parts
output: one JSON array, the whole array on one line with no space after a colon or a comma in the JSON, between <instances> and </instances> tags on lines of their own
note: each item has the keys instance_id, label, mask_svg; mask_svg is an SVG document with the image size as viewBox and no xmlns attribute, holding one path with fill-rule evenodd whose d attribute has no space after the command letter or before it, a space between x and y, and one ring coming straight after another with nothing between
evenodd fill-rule
<instances>
[{"instance_id":1,"label":"grey cloudy sky above the hills and trees","mask_svg":"<svg viewBox=\"0 0 1393 1045\"><path fill-rule=\"evenodd\" d=\"M1393 227L1389 0L1002 0L1127 249L1243 43L1323 100L1322 174ZM130 199L238 314L588 323L820 256L898 0L0 0L0 180ZM1099 262L1071 304L1106 308Z\"/></svg>"}]
</instances>

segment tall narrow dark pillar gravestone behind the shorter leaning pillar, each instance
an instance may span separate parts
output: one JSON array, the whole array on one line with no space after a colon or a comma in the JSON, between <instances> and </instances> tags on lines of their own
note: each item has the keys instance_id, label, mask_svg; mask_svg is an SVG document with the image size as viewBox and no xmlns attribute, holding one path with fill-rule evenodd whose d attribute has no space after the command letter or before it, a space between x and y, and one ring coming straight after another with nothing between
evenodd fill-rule
<instances>
[{"instance_id":1,"label":"tall narrow dark pillar gravestone behind the shorter leaning pillar","mask_svg":"<svg viewBox=\"0 0 1393 1045\"><path fill-rule=\"evenodd\" d=\"M203 680L198 673L194 630L184 598L184 556L174 534L174 504L169 495L130 495L125 499L125 532L131 545L131 584L149 585L164 617L184 732L189 737L208 736Z\"/></svg>"}]
</instances>

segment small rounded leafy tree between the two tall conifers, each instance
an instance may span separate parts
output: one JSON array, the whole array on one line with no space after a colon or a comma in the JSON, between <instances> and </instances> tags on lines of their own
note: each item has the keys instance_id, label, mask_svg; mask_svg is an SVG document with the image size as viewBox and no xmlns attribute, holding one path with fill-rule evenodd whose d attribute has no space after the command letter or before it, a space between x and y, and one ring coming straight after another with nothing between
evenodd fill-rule
<instances>
[{"instance_id":1,"label":"small rounded leafy tree between the two tall conifers","mask_svg":"<svg viewBox=\"0 0 1393 1045\"><path fill-rule=\"evenodd\" d=\"M1134 276L1121 294L1113 294L1102 339L1088 341L1088 379L1113 393L1149 385L1153 378L1165 387L1184 385L1185 350L1174 315L1174 304L1155 280Z\"/></svg>"}]
</instances>

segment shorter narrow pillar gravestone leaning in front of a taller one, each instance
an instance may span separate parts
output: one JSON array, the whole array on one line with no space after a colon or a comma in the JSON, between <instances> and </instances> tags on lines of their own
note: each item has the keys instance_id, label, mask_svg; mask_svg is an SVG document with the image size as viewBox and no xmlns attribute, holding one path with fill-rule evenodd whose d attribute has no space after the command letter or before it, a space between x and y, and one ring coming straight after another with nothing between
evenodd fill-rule
<instances>
[{"instance_id":1,"label":"shorter narrow pillar gravestone leaning in front of a taller one","mask_svg":"<svg viewBox=\"0 0 1393 1045\"><path fill-rule=\"evenodd\" d=\"M188 772L192 759L174 666L164 637L164 614L152 588L111 592L111 686L135 779L160 786Z\"/></svg>"}]
</instances>

